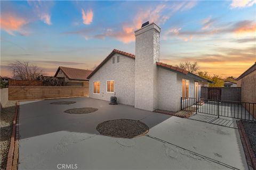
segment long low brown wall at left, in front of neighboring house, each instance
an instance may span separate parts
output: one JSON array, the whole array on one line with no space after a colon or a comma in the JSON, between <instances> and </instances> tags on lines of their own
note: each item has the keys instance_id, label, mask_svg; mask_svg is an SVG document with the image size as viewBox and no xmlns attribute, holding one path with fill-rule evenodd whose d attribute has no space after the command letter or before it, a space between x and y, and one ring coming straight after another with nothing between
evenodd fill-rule
<instances>
[{"instance_id":1,"label":"long low brown wall at left, in front of neighboring house","mask_svg":"<svg viewBox=\"0 0 256 170\"><path fill-rule=\"evenodd\" d=\"M89 86L9 86L9 100L88 97Z\"/></svg>"}]
</instances>

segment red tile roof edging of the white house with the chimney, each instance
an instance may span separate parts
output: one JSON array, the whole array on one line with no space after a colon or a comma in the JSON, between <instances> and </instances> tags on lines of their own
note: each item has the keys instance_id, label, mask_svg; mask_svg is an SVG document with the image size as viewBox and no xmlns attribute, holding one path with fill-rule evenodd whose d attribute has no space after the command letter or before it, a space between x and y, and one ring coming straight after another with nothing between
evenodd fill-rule
<instances>
[{"instance_id":1,"label":"red tile roof edging of the white house with the chimney","mask_svg":"<svg viewBox=\"0 0 256 170\"><path fill-rule=\"evenodd\" d=\"M87 77L87 79L90 79L90 77L92 77L92 75L93 75L95 72L97 72L97 71L100 69L100 67L101 67L103 64L105 64L105 63L108 61L108 59L109 59L111 56L113 56L115 53L117 53L117 54L123 54L123 55L126 56L126 57L130 57L130 58L134 58L134 59L135 59L135 55L134 55L134 54L130 54L130 53L122 52L121 50L113 49L113 51L96 67L96 69L93 70L93 72ZM169 70L174 71L174 72L183 73L183 74L185 74L185 75L190 74L190 75L193 75L193 77L197 77L197 78L199 78L199 79L201 79L201 80L206 80L207 82L213 83L213 82L210 81L210 80L207 80L207 79L204 79L204 78L202 78L202 77L199 77L198 75L193 74L193 73L190 73L190 72L187 71L187 70L180 69L179 67L175 67L175 66L172 66L172 65L169 65L169 64L165 64L165 63L161 63L161 62L157 62L156 64L157 64L157 66L164 67L165 69L169 69Z\"/></svg>"}]
</instances>

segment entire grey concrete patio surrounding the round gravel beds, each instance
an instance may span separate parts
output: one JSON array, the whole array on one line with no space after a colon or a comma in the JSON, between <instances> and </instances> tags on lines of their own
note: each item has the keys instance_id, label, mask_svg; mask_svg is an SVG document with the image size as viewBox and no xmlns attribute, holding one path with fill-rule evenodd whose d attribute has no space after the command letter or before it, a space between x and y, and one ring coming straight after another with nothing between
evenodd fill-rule
<instances>
[{"instance_id":1,"label":"entire grey concrete patio surrounding the round gravel beds","mask_svg":"<svg viewBox=\"0 0 256 170\"><path fill-rule=\"evenodd\" d=\"M98 111L64 113L79 107ZM95 130L118 118L140 120L149 132L122 139ZM92 98L20 102L19 134L19 169L248 169L237 129Z\"/></svg>"}]
</instances>

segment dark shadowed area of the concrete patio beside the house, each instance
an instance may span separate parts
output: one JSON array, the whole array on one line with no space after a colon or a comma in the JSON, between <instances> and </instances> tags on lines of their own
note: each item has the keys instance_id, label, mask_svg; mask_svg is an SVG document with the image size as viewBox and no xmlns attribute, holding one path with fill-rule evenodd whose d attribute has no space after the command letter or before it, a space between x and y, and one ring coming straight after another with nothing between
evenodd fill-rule
<instances>
[{"instance_id":1,"label":"dark shadowed area of the concrete patio beside the house","mask_svg":"<svg viewBox=\"0 0 256 170\"><path fill-rule=\"evenodd\" d=\"M51 105L54 101L76 101L70 105ZM98 111L90 114L67 114L67 109L94 107ZM136 109L127 105L109 105L108 101L92 98L66 98L20 102L19 135L20 139L39 135L68 131L87 134L99 134L99 123L126 118L140 120L150 128L170 118L170 115ZM149 130L150 131L150 130Z\"/></svg>"}]
</instances>

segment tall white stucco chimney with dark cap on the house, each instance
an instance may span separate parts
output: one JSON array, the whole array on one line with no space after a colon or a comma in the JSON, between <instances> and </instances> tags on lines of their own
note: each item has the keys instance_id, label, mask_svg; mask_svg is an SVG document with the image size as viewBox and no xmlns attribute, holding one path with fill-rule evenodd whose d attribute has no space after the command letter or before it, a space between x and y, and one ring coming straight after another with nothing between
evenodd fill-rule
<instances>
[{"instance_id":1,"label":"tall white stucco chimney with dark cap on the house","mask_svg":"<svg viewBox=\"0 0 256 170\"><path fill-rule=\"evenodd\" d=\"M157 108L157 66L159 35L157 24L146 22L135 31L134 107L154 111Z\"/></svg>"}]
</instances>

